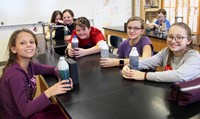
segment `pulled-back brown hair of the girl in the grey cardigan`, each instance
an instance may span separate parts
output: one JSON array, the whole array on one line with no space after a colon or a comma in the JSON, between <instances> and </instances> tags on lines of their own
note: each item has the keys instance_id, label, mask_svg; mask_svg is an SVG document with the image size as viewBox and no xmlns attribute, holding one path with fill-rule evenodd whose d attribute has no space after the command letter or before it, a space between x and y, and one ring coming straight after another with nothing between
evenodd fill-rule
<instances>
[{"instance_id":1,"label":"pulled-back brown hair of the girl in the grey cardigan","mask_svg":"<svg viewBox=\"0 0 200 119\"><path fill-rule=\"evenodd\" d=\"M188 50L190 50L190 49L193 49L192 32L191 32L190 27L189 27L187 24L183 23L183 22L177 22L177 23L172 24L171 27L169 28L169 30L170 30L173 26L178 26L178 27L180 27L180 28L185 29L185 31L186 31L186 33L187 33L187 39L188 39L189 41L191 41L190 44L187 45L187 50L186 50L186 52L187 52ZM168 59L167 59L167 65L171 65L171 59L172 59L172 57L173 57L173 52L169 49L169 56L168 56Z\"/></svg>"}]
</instances>

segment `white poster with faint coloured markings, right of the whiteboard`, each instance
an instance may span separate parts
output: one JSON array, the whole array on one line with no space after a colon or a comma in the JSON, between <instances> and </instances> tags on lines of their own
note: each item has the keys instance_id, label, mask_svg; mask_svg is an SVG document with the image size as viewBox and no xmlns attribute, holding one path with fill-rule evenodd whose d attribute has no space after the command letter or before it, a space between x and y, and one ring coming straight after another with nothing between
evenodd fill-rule
<instances>
[{"instance_id":1,"label":"white poster with faint coloured markings, right of the whiteboard","mask_svg":"<svg viewBox=\"0 0 200 119\"><path fill-rule=\"evenodd\" d=\"M132 0L99 0L95 9L96 26L123 26L132 16Z\"/></svg>"}]
</instances>

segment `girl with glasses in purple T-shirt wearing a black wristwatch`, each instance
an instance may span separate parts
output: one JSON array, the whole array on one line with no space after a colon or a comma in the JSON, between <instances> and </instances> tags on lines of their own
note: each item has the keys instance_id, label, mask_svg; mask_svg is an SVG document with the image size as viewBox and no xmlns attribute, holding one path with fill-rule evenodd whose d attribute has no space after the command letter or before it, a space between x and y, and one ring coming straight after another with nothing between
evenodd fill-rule
<instances>
[{"instance_id":1,"label":"girl with glasses in purple T-shirt wearing a black wristwatch","mask_svg":"<svg viewBox=\"0 0 200 119\"><path fill-rule=\"evenodd\" d=\"M129 54L132 47L136 47L139 58L144 59L151 57L153 54L153 46L147 36L143 36L144 20L140 17L131 17L127 21L128 39L121 42L117 51L119 58L101 58L100 65L102 67L124 66L129 63Z\"/></svg>"}]
</instances>

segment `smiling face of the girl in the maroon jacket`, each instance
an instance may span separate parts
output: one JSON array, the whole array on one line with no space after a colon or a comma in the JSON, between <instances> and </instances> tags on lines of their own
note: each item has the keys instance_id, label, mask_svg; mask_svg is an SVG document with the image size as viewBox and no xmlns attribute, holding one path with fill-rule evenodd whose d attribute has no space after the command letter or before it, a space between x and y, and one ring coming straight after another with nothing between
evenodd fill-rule
<instances>
[{"instance_id":1,"label":"smiling face of the girl in the maroon jacket","mask_svg":"<svg viewBox=\"0 0 200 119\"><path fill-rule=\"evenodd\" d=\"M31 59L36 52L36 40L32 34L21 32L18 34L15 46L11 47L11 51L17 54L17 59Z\"/></svg>"}]
</instances>

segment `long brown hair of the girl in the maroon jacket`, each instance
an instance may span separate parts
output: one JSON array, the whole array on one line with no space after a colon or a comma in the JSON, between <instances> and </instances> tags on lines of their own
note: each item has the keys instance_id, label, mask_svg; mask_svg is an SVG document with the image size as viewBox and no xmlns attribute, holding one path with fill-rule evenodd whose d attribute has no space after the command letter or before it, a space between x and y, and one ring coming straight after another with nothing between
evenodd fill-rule
<instances>
[{"instance_id":1,"label":"long brown hair of the girl in the maroon jacket","mask_svg":"<svg viewBox=\"0 0 200 119\"><path fill-rule=\"evenodd\" d=\"M36 38L36 36L34 35L34 33L31 30L29 30L29 29L21 29L21 30L16 30L15 32L13 32L12 35L10 36L10 39L9 39L9 42L8 42L8 46L7 46L8 50L9 50L9 58L8 58L6 66L3 68L2 74L4 73L5 69L10 64L12 64L12 63L14 63L16 61L17 55L11 51L11 47L16 46L16 39L17 39L18 35L20 33L22 33L22 32L26 32L26 33L31 34L33 36L34 40L35 40L36 47L38 45L37 38Z\"/></svg>"}]
</instances>

